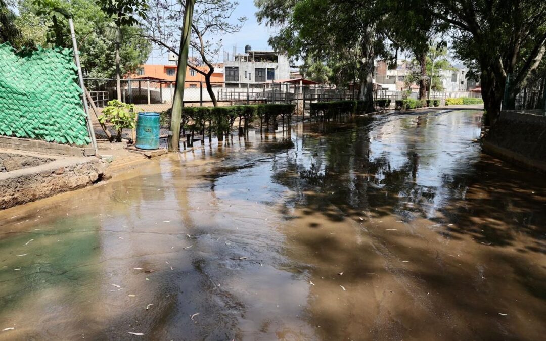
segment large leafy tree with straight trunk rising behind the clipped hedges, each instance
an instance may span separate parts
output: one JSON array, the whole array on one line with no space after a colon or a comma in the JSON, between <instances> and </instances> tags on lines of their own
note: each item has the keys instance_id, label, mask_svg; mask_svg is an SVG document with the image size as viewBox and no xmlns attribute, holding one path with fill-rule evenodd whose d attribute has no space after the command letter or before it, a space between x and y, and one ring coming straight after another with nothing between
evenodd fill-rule
<instances>
[{"instance_id":1,"label":"large leafy tree with straight trunk rising behind the clipped hedges","mask_svg":"<svg viewBox=\"0 0 546 341\"><path fill-rule=\"evenodd\" d=\"M255 0L258 20L279 28L270 39L276 49L286 50L291 56L324 56L333 59L340 51L357 65L359 98L373 110L373 61L385 55L386 35L382 2L371 0Z\"/></svg>"}]
</instances>

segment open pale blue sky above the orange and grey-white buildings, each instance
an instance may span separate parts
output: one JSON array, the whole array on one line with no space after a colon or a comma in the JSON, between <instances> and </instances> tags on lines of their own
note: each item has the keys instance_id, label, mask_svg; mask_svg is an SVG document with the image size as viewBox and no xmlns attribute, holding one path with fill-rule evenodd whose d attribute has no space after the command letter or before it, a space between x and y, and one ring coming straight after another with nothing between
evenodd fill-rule
<instances>
[{"instance_id":1,"label":"open pale blue sky above the orange and grey-white buildings","mask_svg":"<svg viewBox=\"0 0 546 341\"><path fill-rule=\"evenodd\" d=\"M276 30L265 27L265 25L259 25L256 21L256 15L254 15L256 11L257 9L256 6L254 6L253 0L239 0L239 5L232 16L233 22L235 23L236 18L241 16L246 16L247 20L241 31L220 37L223 39L223 50L228 51L231 54L233 46L235 45L237 52L244 52L245 45L247 44L251 45L253 50L266 50L270 48L268 39ZM219 56L218 62L223 62L223 53ZM147 63L166 64L167 55L161 55L161 51L155 49L152 51Z\"/></svg>"}]
</instances>

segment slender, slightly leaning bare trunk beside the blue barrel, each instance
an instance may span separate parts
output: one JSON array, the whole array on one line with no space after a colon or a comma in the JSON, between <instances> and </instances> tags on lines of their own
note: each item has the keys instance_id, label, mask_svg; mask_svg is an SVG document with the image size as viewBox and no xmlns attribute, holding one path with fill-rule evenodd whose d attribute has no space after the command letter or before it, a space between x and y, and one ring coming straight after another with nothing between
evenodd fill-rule
<instances>
[{"instance_id":1,"label":"slender, slightly leaning bare trunk beside the blue barrel","mask_svg":"<svg viewBox=\"0 0 546 341\"><path fill-rule=\"evenodd\" d=\"M176 71L176 86L174 91L173 108L171 109L171 128L169 136L169 152L180 151L180 122L182 121L182 103L184 100L184 81L188 64L189 38L192 33L193 6L195 0L186 0L184 8L184 22L182 24L182 39L178 55L178 70Z\"/></svg>"}]
</instances>

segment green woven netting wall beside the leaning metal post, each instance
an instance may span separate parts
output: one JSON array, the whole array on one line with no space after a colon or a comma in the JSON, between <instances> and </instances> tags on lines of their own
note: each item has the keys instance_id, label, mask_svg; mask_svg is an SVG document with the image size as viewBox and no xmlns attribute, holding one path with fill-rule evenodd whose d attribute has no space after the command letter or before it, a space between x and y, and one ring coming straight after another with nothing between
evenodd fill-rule
<instances>
[{"instance_id":1,"label":"green woven netting wall beside the leaning metal post","mask_svg":"<svg viewBox=\"0 0 546 341\"><path fill-rule=\"evenodd\" d=\"M72 50L0 44L0 135L90 143L77 71Z\"/></svg>"}]
</instances>

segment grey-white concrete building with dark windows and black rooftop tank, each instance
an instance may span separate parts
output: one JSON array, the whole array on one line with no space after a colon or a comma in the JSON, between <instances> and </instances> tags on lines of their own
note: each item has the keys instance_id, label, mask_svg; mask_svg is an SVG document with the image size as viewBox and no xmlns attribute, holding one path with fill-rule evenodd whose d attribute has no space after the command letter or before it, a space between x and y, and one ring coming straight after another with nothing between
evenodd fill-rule
<instances>
[{"instance_id":1,"label":"grey-white concrete building with dark windows and black rooftop tank","mask_svg":"<svg viewBox=\"0 0 546 341\"><path fill-rule=\"evenodd\" d=\"M286 53L254 51L247 45L245 53L224 52L224 81L226 87L246 84L259 85L290 78L290 63Z\"/></svg>"}]
</instances>

